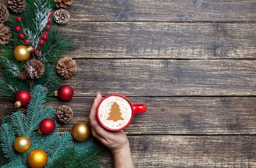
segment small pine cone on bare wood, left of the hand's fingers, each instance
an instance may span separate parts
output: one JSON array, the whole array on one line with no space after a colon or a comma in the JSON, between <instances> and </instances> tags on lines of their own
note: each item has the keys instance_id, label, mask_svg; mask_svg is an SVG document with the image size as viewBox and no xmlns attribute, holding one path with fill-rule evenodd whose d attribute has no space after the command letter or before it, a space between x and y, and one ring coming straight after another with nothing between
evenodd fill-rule
<instances>
[{"instance_id":1,"label":"small pine cone on bare wood, left of the hand's fingers","mask_svg":"<svg viewBox=\"0 0 256 168\"><path fill-rule=\"evenodd\" d=\"M56 115L57 115L58 119L60 120L60 122L67 124L68 120L72 119L72 117L73 117L73 111L71 110L70 107L61 106L61 107L59 107Z\"/></svg>"}]
</instances>

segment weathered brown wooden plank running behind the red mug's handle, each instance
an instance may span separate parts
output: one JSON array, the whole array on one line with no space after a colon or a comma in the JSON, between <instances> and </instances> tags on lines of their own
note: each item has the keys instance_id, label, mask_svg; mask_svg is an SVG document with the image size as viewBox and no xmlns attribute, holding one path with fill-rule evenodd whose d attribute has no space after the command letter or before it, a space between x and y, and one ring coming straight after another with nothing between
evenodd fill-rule
<instances>
[{"instance_id":1,"label":"weathered brown wooden plank running behind the red mug's handle","mask_svg":"<svg viewBox=\"0 0 256 168\"><path fill-rule=\"evenodd\" d=\"M256 97L130 97L133 103L146 104L146 113L135 114L125 129L127 134L256 134ZM89 123L93 102L90 98L73 98L49 105L55 110L69 106L74 114L61 132L71 132L76 122ZM0 117L13 103L0 103ZM157 116L157 117L155 117Z\"/></svg>"}]
</instances>

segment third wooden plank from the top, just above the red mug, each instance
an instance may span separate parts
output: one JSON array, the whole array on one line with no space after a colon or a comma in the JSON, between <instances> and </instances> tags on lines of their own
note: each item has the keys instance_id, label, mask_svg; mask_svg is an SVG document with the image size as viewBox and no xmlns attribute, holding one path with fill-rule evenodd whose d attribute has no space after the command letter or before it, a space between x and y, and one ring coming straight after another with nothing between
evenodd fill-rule
<instances>
[{"instance_id":1,"label":"third wooden plank from the top, just above the red mug","mask_svg":"<svg viewBox=\"0 0 256 168\"><path fill-rule=\"evenodd\" d=\"M256 96L255 60L76 60L75 96Z\"/></svg>"}]
</instances>

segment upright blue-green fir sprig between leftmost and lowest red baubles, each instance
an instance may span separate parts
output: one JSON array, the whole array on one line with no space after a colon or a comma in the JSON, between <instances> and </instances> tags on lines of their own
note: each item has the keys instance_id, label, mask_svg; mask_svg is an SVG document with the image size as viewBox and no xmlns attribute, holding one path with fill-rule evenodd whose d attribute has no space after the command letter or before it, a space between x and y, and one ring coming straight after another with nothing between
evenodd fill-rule
<instances>
[{"instance_id":1,"label":"upright blue-green fir sprig between leftmost and lowest red baubles","mask_svg":"<svg viewBox=\"0 0 256 168\"><path fill-rule=\"evenodd\" d=\"M29 129L29 133L25 135L27 138L30 138L30 136L33 137L35 135L33 131L38 127L38 116L43 110L43 104L46 101L46 94L47 92L45 92L45 88L41 85L37 85L32 89L31 100L27 107L28 109L26 115Z\"/></svg>"}]
</instances>

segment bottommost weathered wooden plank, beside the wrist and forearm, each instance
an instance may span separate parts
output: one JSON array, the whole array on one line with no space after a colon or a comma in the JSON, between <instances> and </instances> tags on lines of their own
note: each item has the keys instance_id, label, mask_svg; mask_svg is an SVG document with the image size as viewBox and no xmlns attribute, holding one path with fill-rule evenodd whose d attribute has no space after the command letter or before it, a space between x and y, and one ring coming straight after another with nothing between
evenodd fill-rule
<instances>
[{"instance_id":1,"label":"bottommost weathered wooden plank, beside the wrist and forearm","mask_svg":"<svg viewBox=\"0 0 256 168\"><path fill-rule=\"evenodd\" d=\"M255 168L256 136L128 136L136 168ZM101 160L113 168L111 154Z\"/></svg>"}]
</instances>

